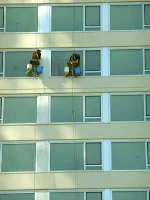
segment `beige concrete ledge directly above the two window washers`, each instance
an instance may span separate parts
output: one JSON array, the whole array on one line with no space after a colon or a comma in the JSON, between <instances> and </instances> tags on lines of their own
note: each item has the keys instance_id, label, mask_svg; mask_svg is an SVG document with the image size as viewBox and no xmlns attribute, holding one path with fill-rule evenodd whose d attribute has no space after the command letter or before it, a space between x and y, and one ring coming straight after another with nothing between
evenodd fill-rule
<instances>
[{"instance_id":1,"label":"beige concrete ledge directly above the two window washers","mask_svg":"<svg viewBox=\"0 0 150 200\"><path fill-rule=\"evenodd\" d=\"M150 31L0 33L0 48L92 48L150 45Z\"/></svg>"}]
</instances>

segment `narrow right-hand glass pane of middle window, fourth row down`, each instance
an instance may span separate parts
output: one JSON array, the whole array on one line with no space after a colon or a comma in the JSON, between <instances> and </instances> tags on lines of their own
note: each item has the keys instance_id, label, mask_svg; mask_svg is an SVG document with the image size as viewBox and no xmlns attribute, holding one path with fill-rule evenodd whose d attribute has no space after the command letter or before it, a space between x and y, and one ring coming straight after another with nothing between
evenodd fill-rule
<instances>
[{"instance_id":1,"label":"narrow right-hand glass pane of middle window, fourth row down","mask_svg":"<svg viewBox=\"0 0 150 200\"><path fill-rule=\"evenodd\" d=\"M86 165L101 165L101 143L86 143Z\"/></svg>"}]
</instances>

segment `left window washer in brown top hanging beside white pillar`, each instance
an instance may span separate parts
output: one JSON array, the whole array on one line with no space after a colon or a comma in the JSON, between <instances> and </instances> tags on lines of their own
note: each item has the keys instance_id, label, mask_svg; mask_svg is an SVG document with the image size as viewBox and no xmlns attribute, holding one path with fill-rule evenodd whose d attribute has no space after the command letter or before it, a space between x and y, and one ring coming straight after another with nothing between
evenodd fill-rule
<instances>
[{"instance_id":1,"label":"left window washer in brown top hanging beside white pillar","mask_svg":"<svg viewBox=\"0 0 150 200\"><path fill-rule=\"evenodd\" d=\"M31 68L27 69L26 75L32 76L32 72L35 72L35 76L38 77L39 73L37 71L37 67L40 65L41 59L41 50L36 50L32 53L32 59L30 60Z\"/></svg>"}]
</instances>

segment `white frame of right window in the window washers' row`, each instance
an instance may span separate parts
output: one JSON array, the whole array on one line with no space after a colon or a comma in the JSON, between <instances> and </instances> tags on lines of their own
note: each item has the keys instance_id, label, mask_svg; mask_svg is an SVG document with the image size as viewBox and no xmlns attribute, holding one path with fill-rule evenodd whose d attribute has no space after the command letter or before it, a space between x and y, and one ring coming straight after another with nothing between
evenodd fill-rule
<instances>
[{"instance_id":1,"label":"white frame of right window in the window washers' row","mask_svg":"<svg viewBox=\"0 0 150 200\"><path fill-rule=\"evenodd\" d=\"M150 74L146 74L146 72L149 72L150 73L150 70L146 70L146 59L145 59L145 51L146 50L150 50L150 46L147 46L147 47L110 47L109 48L109 55L111 53L111 50L142 50L142 53L143 53L143 74L139 74L139 75L111 75L110 76L149 76ZM111 55L110 55L111 56ZM109 58L111 60L111 57ZM110 69L111 69L111 63L110 63Z\"/></svg>"}]
</instances>

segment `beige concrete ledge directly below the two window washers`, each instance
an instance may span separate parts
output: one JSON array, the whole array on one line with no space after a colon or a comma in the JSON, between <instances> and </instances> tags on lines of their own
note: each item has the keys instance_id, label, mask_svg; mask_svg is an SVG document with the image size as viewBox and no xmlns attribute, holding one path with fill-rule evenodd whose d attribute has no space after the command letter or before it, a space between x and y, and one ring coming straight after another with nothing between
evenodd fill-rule
<instances>
[{"instance_id":1,"label":"beige concrete ledge directly below the two window washers","mask_svg":"<svg viewBox=\"0 0 150 200\"><path fill-rule=\"evenodd\" d=\"M0 95L149 92L149 76L1 78Z\"/></svg>"}]
</instances>

